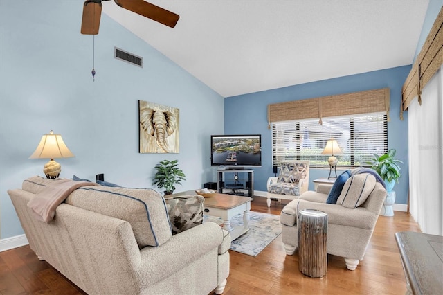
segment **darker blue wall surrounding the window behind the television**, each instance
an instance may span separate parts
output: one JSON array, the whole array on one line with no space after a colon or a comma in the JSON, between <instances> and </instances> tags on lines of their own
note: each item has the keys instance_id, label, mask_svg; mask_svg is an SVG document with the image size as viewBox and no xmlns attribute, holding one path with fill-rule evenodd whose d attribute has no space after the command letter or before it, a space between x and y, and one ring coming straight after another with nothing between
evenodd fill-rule
<instances>
[{"instance_id":1,"label":"darker blue wall surrounding the window behind the television","mask_svg":"<svg viewBox=\"0 0 443 295\"><path fill-rule=\"evenodd\" d=\"M411 66L400 66L225 98L224 129L226 134L262 134L262 168L254 170L254 190L266 191L266 181L268 177L273 176L272 135L267 122L269 104L388 87L390 89L388 147L395 148L397 158L404 162L401 165L402 177L399 184L395 186L396 203L406 204L408 198L408 114L404 114L404 120L400 120L399 114L401 87L410 68ZM312 180L327 177L328 174L329 168L311 169L309 189L314 189Z\"/></svg>"}]
</instances>

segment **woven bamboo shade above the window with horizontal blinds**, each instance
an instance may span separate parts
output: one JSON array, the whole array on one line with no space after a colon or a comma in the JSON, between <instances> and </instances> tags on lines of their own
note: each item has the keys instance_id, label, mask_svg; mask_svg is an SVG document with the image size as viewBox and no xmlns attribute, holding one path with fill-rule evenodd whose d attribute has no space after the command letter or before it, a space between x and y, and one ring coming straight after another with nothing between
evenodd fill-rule
<instances>
[{"instance_id":1,"label":"woven bamboo shade above the window with horizontal blinds","mask_svg":"<svg viewBox=\"0 0 443 295\"><path fill-rule=\"evenodd\" d=\"M389 120L389 88L268 105L268 122L384 112Z\"/></svg>"}]
</instances>

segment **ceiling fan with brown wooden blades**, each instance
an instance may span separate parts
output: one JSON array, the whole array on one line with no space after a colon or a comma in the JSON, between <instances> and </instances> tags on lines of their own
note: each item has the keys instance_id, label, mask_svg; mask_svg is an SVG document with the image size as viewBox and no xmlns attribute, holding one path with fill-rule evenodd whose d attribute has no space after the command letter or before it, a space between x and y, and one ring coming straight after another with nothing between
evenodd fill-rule
<instances>
[{"instance_id":1,"label":"ceiling fan with brown wooden blades","mask_svg":"<svg viewBox=\"0 0 443 295\"><path fill-rule=\"evenodd\" d=\"M109 1L109 0L103 0ZM158 21L165 26L174 28L179 21L179 15L159 6L155 6L143 0L114 0L118 6L148 19ZM102 15L102 0L87 0L83 5L82 29L80 33L85 35L97 35Z\"/></svg>"}]
</instances>

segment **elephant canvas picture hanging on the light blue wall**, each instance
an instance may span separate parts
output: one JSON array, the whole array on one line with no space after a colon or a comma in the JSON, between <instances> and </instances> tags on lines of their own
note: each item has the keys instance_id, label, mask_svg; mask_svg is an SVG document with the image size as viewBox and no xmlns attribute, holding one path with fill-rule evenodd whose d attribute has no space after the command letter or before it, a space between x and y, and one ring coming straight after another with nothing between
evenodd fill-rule
<instances>
[{"instance_id":1,"label":"elephant canvas picture hanging on the light blue wall","mask_svg":"<svg viewBox=\"0 0 443 295\"><path fill-rule=\"evenodd\" d=\"M179 109L138 100L141 153L179 152Z\"/></svg>"}]
</instances>

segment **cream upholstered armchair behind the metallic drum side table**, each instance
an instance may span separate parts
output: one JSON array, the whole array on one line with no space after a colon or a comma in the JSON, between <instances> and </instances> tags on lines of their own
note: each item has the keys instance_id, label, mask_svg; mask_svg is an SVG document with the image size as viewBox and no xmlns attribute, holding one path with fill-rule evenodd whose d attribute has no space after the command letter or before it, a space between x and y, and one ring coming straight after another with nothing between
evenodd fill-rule
<instances>
[{"instance_id":1,"label":"cream upholstered armchair behind the metallic drum side table","mask_svg":"<svg viewBox=\"0 0 443 295\"><path fill-rule=\"evenodd\" d=\"M337 181L340 179L342 175ZM317 192L308 190L284 206L280 214L282 241L287 254L292 255L298 248L298 212L323 211L328 219L327 253L345 258L347 269L354 270L365 255L386 189L369 173L352 175L341 184L337 181L334 186L320 184Z\"/></svg>"}]
</instances>

